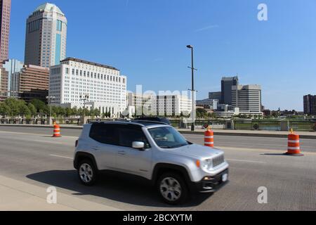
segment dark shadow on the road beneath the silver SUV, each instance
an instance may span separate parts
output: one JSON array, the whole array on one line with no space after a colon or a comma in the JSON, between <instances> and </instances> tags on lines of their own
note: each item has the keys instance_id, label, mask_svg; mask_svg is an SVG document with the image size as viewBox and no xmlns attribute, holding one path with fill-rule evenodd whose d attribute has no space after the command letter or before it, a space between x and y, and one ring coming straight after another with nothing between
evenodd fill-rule
<instances>
[{"instance_id":1,"label":"dark shadow on the road beneath the silver SUV","mask_svg":"<svg viewBox=\"0 0 316 225\"><path fill-rule=\"evenodd\" d=\"M95 195L101 198L150 207L173 207L162 202L154 186L138 176L103 172L94 186L84 186L77 177L76 170L51 170L27 175L28 179L39 181L56 188L74 191L73 195ZM200 205L211 194L195 194L184 205L174 207L192 207Z\"/></svg>"}]
</instances>

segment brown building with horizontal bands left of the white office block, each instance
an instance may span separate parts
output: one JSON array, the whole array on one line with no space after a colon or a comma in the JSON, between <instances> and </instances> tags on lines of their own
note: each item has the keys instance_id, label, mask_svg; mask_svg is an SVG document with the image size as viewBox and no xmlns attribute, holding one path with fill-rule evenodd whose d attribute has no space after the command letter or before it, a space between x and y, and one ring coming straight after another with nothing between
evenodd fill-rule
<instances>
[{"instance_id":1,"label":"brown building with horizontal bands left of the white office block","mask_svg":"<svg viewBox=\"0 0 316 225\"><path fill-rule=\"evenodd\" d=\"M24 65L19 75L20 98L29 102L32 99L46 101L49 86L49 68L37 65Z\"/></svg>"}]
</instances>

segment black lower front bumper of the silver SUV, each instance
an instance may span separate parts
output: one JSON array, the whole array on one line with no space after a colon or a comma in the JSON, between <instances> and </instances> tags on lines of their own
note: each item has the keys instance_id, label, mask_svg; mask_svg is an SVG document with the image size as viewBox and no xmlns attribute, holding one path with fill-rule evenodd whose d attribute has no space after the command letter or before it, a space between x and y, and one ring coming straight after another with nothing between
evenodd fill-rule
<instances>
[{"instance_id":1,"label":"black lower front bumper of the silver SUV","mask_svg":"<svg viewBox=\"0 0 316 225\"><path fill-rule=\"evenodd\" d=\"M223 181L223 175L227 174L227 180ZM218 191L218 189L228 184L228 169L223 170L216 174L215 176L209 176L208 180L202 179L199 182L191 182L191 191L199 192L199 193L210 193Z\"/></svg>"}]
</instances>

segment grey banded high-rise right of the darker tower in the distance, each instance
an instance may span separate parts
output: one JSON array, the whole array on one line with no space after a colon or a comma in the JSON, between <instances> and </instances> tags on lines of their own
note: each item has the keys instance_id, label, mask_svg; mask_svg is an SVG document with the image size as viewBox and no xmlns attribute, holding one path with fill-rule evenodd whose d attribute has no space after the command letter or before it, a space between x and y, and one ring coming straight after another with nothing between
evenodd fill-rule
<instances>
[{"instance_id":1,"label":"grey banded high-rise right of the darker tower in the distance","mask_svg":"<svg viewBox=\"0 0 316 225\"><path fill-rule=\"evenodd\" d=\"M232 86L232 107L242 113L261 113L261 86Z\"/></svg>"}]
</instances>

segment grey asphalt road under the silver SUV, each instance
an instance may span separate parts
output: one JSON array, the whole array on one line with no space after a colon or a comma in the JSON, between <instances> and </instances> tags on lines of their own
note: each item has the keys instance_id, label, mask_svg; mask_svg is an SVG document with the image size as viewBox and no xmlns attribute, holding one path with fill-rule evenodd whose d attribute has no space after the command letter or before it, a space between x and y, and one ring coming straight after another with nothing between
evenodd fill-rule
<instances>
[{"instance_id":1,"label":"grey asphalt road under the silver SUV","mask_svg":"<svg viewBox=\"0 0 316 225\"><path fill-rule=\"evenodd\" d=\"M55 186L63 194L119 210L316 210L316 140L301 140L305 156L291 157L282 155L287 139L216 136L216 147L230 163L230 183L213 195L170 207L147 182L130 176L105 174L96 186L82 186L72 167L79 132L64 129L62 138L53 139L47 128L0 127L0 175ZM203 143L203 136L185 136ZM268 204L257 202L261 186L268 189Z\"/></svg>"}]
</instances>

